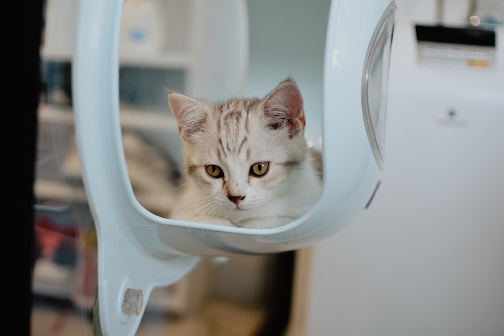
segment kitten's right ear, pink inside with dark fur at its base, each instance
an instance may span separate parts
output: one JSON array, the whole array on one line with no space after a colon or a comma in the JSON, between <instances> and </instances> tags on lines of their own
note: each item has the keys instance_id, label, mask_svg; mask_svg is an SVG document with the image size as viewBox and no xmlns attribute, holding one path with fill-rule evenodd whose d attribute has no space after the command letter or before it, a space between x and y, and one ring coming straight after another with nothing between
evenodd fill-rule
<instances>
[{"instance_id":1,"label":"kitten's right ear, pink inside with dark fur at its base","mask_svg":"<svg viewBox=\"0 0 504 336\"><path fill-rule=\"evenodd\" d=\"M263 109L271 121L268 125L271 129L288 127L291 138L304 129L303 97L291 78L281 82L263 99Z\"/></svg>"}]
</instances>

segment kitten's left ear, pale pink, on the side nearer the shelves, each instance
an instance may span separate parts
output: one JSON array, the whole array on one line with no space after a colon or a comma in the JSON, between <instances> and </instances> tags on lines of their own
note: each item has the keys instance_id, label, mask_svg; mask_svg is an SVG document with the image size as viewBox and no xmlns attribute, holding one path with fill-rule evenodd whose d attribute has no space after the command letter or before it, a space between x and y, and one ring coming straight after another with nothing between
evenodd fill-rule
<instances>
[{"instance_id":1,"label":"kitten's left ear, pale pink, on the side nearer the shelves","mask_svg":"<svg viewBox=\"0 0 504 336\"><path fill-rule=\"evenodd\" d=\"M168 92L168 105L178 122L180 136L191 141L195 134L204 132L210 111L201 102L177 92Z\"/></svg>"}]
</instances>

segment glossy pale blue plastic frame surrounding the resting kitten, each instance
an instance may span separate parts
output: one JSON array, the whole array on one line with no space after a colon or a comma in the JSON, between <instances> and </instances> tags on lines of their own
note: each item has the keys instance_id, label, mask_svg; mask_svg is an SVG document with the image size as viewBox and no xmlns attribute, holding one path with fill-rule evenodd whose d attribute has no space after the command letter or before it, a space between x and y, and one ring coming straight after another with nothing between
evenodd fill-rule
<instances>
[{"instance_id":1,"label":"glossy pale blue plastic frame surrounding the resting kitten","mask_svg":"<svg viewBox=\"0 0 504 336\"><path fill-rule=\"evenodd\" d=\"M105 335L135 334L152 289L183 277L199 256L307 246L347 225L371 202L382 164L395 11L389 0L333 1L320 134L322 194L298 220L257 230L162 218L135 198L121 154L117 98L123 3L80 2L72 69L79 155L98 235L99 316ZM241 94L248 71L246 2L201 2L199 8L199 20L221 20L220 27L208 26L197 43L203 48L210 37L221 34L222 57L218 65L205 58L195 62L200 68L191 79L194 93L204 96L201 88L215 86L215 71L221 71L219 90Z\"/></svg>"}]
</instances>

